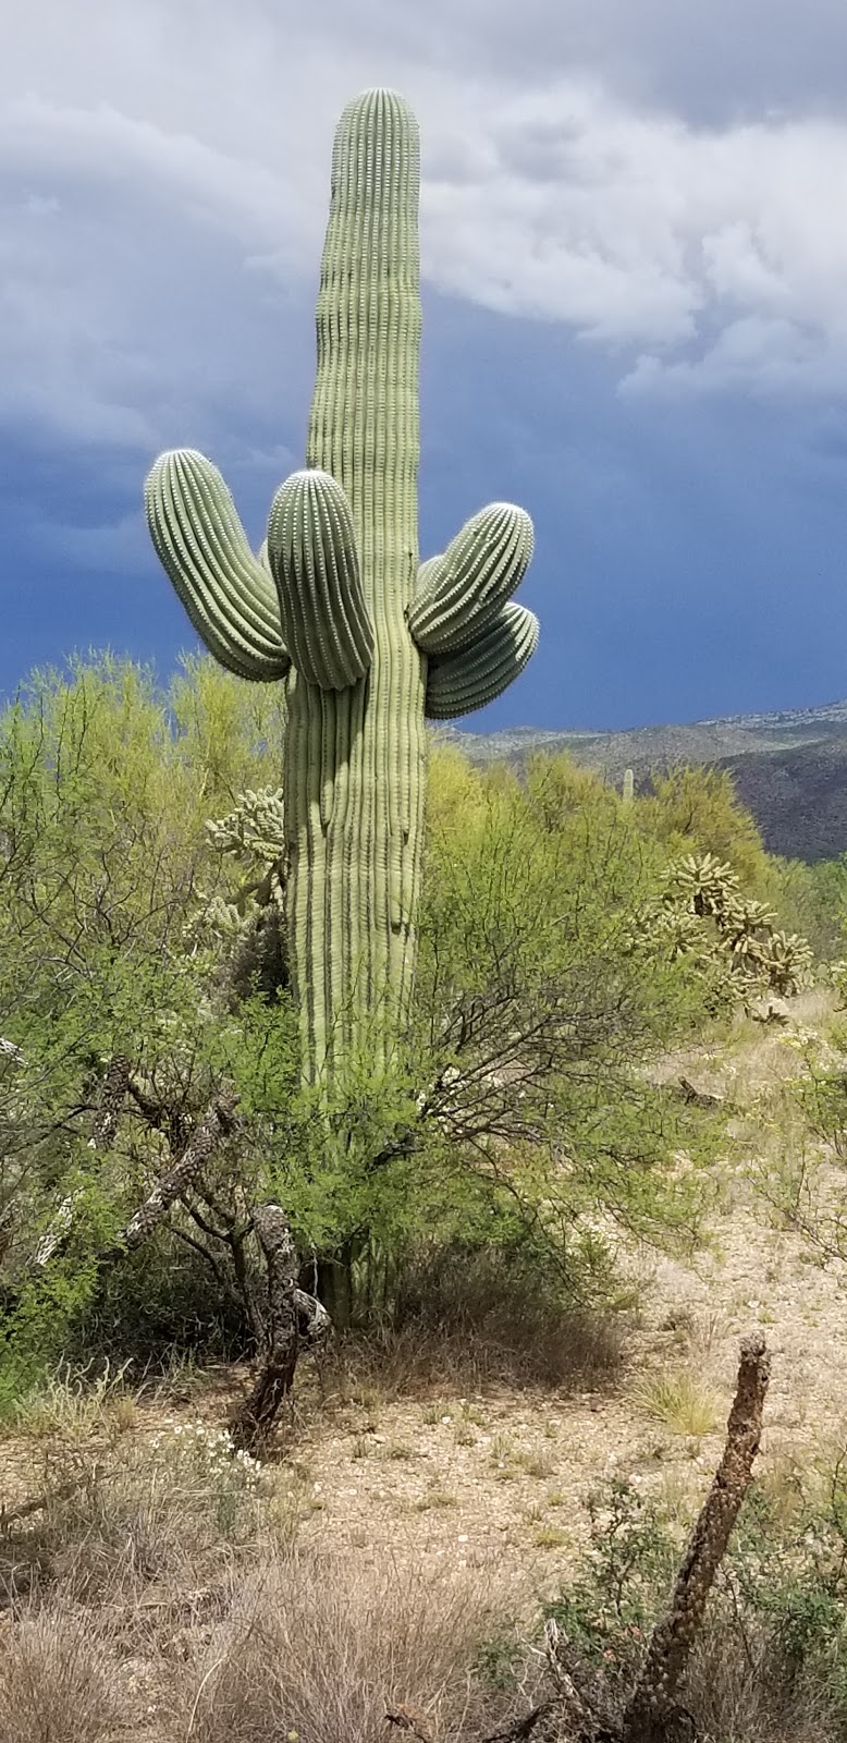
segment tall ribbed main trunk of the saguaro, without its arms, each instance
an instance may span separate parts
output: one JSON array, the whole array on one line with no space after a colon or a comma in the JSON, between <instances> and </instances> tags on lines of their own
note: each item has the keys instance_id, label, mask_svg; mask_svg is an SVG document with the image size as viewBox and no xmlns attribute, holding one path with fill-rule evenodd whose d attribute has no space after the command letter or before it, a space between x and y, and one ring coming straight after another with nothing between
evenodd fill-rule
<instances>
[{"instance_id":1,"label":"tall ribbed main trunk of the saguaro, without its arms","mask_svg":"<svg viewBox=\"0 0 847 1743\"><path fill-rule=\"evenodd\" d=\"M369 92L342 117L317 300L307 465L352 509L373 659L345 690L293 675L286 753L289 934L308 1056L406 1009L425 793L425 654L406 622L418 572L418 139Z\"/></svg>"}]
</instances>

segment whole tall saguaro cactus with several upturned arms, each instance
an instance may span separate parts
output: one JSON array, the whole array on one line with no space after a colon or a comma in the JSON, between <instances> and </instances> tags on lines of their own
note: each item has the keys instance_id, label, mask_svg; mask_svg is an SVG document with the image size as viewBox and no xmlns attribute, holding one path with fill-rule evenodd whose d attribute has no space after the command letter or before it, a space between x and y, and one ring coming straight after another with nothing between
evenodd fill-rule
<instances>
[{"instance_id":1,"label":"whole tall saguaro cactus with several upturned arms","mask_svg":"<svg viewBox=\"0 0 847 1743\"><path fill-rule=\"evenodd\" d=\"M418 566L418 132L406 103L347 106L317 300L307 471L281 485L253 556L223 478L164 453L145 488L155 549L206 647L284 680L288 936L303 1067L408 1006L425 795L425 718L490 702L539 638L511 603L532 521L476 514Z\"/></svg>"}]
</instances>

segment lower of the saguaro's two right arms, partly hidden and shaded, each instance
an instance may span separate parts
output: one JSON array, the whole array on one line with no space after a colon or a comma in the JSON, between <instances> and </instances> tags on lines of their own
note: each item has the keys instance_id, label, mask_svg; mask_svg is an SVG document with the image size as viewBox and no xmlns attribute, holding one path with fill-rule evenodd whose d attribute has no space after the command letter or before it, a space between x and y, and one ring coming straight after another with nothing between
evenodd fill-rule
<instances>
[{"instance_id":1,"label":"lower of the saguaro's two right arms, partly hidden and shaded","mask_svg":"<svg viewBox=\"0 0 847 1743\"><path fill-rule=\"evenodd\" d=\"M539 645L539 619L525 605L500 607L478 641L429 661L427 720L457 720L493 702Z\"/></svg>"}]
</instances>

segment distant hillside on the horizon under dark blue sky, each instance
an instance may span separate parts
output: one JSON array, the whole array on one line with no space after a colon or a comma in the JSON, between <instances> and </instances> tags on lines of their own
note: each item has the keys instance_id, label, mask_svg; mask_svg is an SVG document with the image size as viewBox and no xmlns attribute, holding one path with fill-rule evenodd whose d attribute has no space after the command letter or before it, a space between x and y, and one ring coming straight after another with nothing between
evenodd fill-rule
<instances>
[{"instance_id":1,"label":"distant hillside on the horizon under dark blue sky","mask_svg":"<svg viewBox=\"0 0 847 1743\"><path fill-rule=\"evenodd\" d=\"M535 751L570 751L575 762L620 784L624 769L638 783L673 763L730 769L765 847L791 859L831 859L847 852L847 701L774 715L730 715L683 727L633 732L460 732L436 734L472 762L521 765Z\"/></svg>"}]
</instances>

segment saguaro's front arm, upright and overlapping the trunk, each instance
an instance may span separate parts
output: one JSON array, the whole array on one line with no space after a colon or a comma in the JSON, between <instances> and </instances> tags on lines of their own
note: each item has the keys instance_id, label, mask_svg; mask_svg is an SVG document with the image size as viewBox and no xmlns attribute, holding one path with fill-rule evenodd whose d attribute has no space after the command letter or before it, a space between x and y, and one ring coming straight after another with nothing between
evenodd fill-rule
<instances>
[{"instance_id":1,"label":"saguaro's front arm, upright and overlapping the trunk","mask_svg":"<svg viewBox=\"0 0 847 1743\"><path fill-rule=\"evenodd\" d=\"M373 659L350 504L322 471L293 472L268 518L267 558L296 669L321 690L345 690Z\"/></svg>"}]
</instances>

